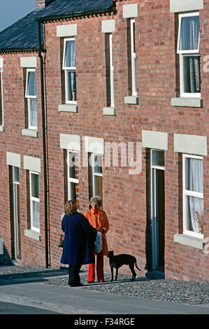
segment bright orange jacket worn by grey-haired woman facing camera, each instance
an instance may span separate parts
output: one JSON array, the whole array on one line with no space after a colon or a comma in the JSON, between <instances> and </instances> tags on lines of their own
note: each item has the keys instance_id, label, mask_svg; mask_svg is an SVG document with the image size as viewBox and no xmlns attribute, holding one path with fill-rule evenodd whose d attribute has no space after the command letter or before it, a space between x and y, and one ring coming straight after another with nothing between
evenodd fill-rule
<instances>
[{"instance_id":1,"label":"bright orange jacket worn by grey-haired woman facing camera","mask_svg":"<svg viewBox=\"0 0 209 329\"><path fill-rule=\"evenodd\" d=\"M108 242L106 239L106 233L109 230L109 222L106 212L99 209L99 211L94 212L93 209L85 211L84 214L85 218L89 221L89 223L93 226L93 228L97 228L98 230L103 230L102 232L102 241L103 241L103 248L99 254L101 255L108 255Z\"/></svg>"}]
</instances>

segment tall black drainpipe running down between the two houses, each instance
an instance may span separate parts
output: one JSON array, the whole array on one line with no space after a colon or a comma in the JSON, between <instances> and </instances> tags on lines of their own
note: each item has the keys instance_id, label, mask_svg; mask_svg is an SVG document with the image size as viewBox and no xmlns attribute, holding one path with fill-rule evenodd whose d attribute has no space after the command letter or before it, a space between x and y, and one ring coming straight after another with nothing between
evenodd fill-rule
<instances>
[{"instance_id":1,"label":"tall black drainpipe running down between the two houses","mask_svg":"<svg viewBox=\"0 0 209 329\"><path fill-rule=\"evenodd\" d=\"M48 245L48 178L47 178L47 157L46 157L46 141L45 141L45 94L44 94L44 73L43 73L43 56L41 44L41 22L38 21L38 39L39 49L38 57L40 58L41 69L41 109L42 109L42 134L43 134L43 176L44 176L44 207L45 207L45 267L50 268L49 262L49 245Z\"/></svg>"}]
</instances>

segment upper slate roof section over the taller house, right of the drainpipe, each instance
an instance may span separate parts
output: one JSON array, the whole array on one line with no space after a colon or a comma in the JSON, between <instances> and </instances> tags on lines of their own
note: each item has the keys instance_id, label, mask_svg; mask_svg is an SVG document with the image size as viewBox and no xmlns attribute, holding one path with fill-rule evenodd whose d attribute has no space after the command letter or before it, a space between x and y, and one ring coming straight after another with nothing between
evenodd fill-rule
<instances>
[{"instance_id":1,"label":"upper slate roof section over the taller house, right of the drainpipe","mask_svg":"<svg viewBox=\"0 0 209 329\"><path fill-rule=\"evenodd\" d=\"M39 20L64 18L82 13L100 13L113 6L113 0L56 0L41 10Z\"/></svg>"}]
</instances>

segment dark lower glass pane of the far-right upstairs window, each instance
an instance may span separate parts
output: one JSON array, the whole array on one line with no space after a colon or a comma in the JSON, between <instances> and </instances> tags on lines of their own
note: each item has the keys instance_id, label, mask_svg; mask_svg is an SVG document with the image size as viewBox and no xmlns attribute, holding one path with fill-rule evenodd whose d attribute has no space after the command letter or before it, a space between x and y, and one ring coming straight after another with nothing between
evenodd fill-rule
<instances>
[{"instance_id":1,"label":"dark lower glass pane of the far-right upstairs window","mask_svg":"<svg viewBox=\"0 0 209 329\"><path fill-rule=\"evenodd\" d=\"M184 92L201 92L200 57L184 56Z\"/></svg>"}]
</instances>

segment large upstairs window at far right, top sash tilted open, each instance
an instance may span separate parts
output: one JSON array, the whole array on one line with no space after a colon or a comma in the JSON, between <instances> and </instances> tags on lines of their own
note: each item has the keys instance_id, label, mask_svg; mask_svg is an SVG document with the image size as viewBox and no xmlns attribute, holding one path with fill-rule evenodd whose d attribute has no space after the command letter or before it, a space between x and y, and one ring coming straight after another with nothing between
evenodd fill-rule
<instances>
[{"instance_id":1,"label":"large upstairs window at far right, top sash tilted open","mask_svg":"<svg viewBox=\"0 0 209 329\"><path fill-rule=\"evenodd\" d=\"M178 54L180 54L180 94L201 96L199 13L179 14Z\"/></svg>"}]
</instances>

